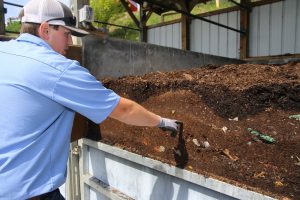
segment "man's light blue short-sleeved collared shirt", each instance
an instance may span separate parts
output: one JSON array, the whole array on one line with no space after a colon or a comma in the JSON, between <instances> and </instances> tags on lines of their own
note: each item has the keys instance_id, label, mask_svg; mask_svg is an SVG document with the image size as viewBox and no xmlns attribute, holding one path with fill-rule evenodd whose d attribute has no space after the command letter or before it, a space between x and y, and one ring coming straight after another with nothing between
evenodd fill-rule
<instances>
[{"instance_id":1,"label":"man's light blue short-sleeved collared shirt","mask_svg":"<svg viewBox=\"0 0 300 200\"><path fill-rule=\"evenodd\" d=\"M0 42L0 199L62 185L74 112L100 123L119 99L38 37Z\"/></svg>"}]
</instances>

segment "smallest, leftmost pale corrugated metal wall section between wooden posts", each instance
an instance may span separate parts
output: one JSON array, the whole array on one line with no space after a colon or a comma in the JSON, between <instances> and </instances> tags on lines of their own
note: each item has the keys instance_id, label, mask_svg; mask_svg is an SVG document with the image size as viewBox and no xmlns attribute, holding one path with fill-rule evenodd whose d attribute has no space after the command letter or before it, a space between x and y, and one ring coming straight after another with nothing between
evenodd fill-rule
<instances>
[{"instance_id":1,"label":"smallest, leftmost pale corrugated metal wall section between wooden posts","mask_svg":"<svg viewBox=\"0 0 300 200\"><path fill-rule=\"evenodd\" d=\"M148 43L181 49L181 23L149 29Z\"/></svg>"}]
</instances>

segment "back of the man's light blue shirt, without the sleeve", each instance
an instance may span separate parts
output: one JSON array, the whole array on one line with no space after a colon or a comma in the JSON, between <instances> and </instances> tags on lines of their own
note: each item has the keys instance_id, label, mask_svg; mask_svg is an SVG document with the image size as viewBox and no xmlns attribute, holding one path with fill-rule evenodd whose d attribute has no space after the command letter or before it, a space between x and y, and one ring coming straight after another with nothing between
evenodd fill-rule
<instances>
[{"instance_id":1,"label":"back of the man's light blue shirt, without the sleeve","mask_svg":"<svg viewBox=\"0 0 300 200\"><path fill-rule=\"evenodd\" d=\"M0 43L0 199L24 199L65 180L74 112L53 99L67 66L60 56L28 41Z\"/></svg>"}]
</instances>

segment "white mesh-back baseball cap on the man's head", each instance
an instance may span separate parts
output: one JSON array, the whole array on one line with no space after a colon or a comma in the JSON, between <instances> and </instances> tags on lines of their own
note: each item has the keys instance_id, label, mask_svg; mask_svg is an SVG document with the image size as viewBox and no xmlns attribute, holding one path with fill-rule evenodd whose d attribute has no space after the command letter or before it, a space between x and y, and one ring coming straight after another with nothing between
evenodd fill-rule
<instances>
[{"instance_id":1,"label":"white mesh-back baseball cap on the man's head","mask_svg":"<svg viewBox=\"0 0 300 200\"><path fill-rule=\"evenodd\" d=\"M37 23L48 22L51 25L63 26L77 37L88 35L85 30L76 28L76 17L70 8L57 0L30 0L23 7L22 22Z\"/></svg>"}]
</instances>

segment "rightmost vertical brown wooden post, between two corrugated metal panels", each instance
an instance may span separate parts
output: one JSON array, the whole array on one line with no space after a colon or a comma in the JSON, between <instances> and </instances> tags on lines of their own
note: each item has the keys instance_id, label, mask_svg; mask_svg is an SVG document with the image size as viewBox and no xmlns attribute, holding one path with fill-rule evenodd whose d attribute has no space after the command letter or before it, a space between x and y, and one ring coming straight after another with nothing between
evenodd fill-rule
<instances>
[{"instance_id":1,"label":"rightmost vertical brown wooden post, between two corrugated metal panels","mask_svg":"<svg viewBox=\"0 0 300 200\"><path fill-rule=\"evenodd\" d=\"M250 0L241 0L241 4L248 7ZM250 11L247 9L240 10L240 29L245 34L240 34L240 59L248 58L249 56L249 20Z\"/></svg>"}]
</instances>

